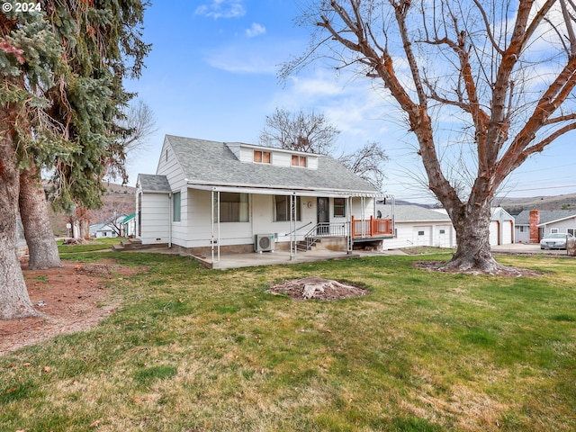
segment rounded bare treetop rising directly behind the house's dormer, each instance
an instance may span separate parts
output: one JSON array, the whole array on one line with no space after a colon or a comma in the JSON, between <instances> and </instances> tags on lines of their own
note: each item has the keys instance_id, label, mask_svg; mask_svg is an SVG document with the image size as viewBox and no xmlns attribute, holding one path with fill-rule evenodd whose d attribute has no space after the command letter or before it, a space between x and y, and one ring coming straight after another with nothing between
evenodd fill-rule
<instances>
[{"instance_id":1,"label":"rounded bare treetop rising directly behind the house's dormer","mask_svg":"<svg viewBox=\"0 0 576 432\"><path fill-rule=\"evenodd\" d=\"M339 133L324 114L293 113L276 108L274 114L266 115L266 127L260 133L260 143L268 147L327 155Z\"/></svg>"}]
</instances>

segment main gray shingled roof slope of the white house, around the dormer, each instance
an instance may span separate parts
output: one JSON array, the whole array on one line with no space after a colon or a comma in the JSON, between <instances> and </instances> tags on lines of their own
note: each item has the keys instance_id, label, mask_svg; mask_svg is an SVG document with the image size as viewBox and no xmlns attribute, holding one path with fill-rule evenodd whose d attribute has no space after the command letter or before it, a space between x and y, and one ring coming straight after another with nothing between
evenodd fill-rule
<instances>
[{"instance_id":1,"label":"main gray shingled roof slope of the white house, around the dormer","mask_svg":"<svg viewBox=\"0 0 576 432\"><path fill-rule=\"evenodd\" d=\"M318 169L241 162L230 150L252 144L225 143L166 135L188 184L220 184L293 190L338 190L379 193L370 183L332 157L318 157ZM266 149L266 148L263 148ZM277 148L271 148L277 151ZM282 151L282 150L281 150ZM302 153L299 153L302 154Z\"/></svg>"}]
</instances>

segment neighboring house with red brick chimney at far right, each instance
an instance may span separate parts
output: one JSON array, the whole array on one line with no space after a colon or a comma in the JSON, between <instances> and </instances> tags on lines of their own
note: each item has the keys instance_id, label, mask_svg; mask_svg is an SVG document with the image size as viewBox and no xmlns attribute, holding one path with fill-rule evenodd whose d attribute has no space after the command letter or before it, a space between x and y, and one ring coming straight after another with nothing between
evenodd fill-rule
<instances>
[{"instance_id":1,"label":"neighboring house with red brick chimney at far right","mask_svg":"<svg viewBox=\"0 0 576 432\"><path fill-rule=\"evenodd\" d=\"M576 211L525 210L516 217L516 241L538 243L547 234L568 233L576 236Z\"/></svg>"}]
</instances>

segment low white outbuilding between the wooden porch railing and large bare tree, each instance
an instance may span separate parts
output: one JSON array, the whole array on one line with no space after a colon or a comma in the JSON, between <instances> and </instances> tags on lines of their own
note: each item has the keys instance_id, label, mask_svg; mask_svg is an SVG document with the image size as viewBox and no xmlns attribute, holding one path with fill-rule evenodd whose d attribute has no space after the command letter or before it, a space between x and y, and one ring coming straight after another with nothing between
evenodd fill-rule
<instances>
[{"instance_id":1,"label":"low white outbuilding between the wooden porch railing and large bare tree","mask_svg":"<svg viewBox=\"0 0 576 432\"><path fill-rule=\"evenodd\" d=\"M378 216L394 220L394 238L385 239L384 248L456 246L455 229L446 212L419 205L391 204L378 204L376 211Z\"/></svg>"}]
</instances>

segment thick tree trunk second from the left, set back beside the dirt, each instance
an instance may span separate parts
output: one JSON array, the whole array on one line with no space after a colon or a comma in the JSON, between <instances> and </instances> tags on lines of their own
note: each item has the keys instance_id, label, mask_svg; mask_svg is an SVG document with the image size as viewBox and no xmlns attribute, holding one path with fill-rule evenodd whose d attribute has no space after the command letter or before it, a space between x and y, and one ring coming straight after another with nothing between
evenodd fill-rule
<instances>
[{"instance_id":1,"label":"thick tree trunk second from the left, set back beside the dirt","mask_svg":"<svg viewBox=\"0 0 576 432\"><path fill-rule=\"evenodd\" d=\"M61 267L58 246L49 220L46 195L37 167L20 173L20 216L30 251L29 268Z\"/></svg>"}]
</instances>

